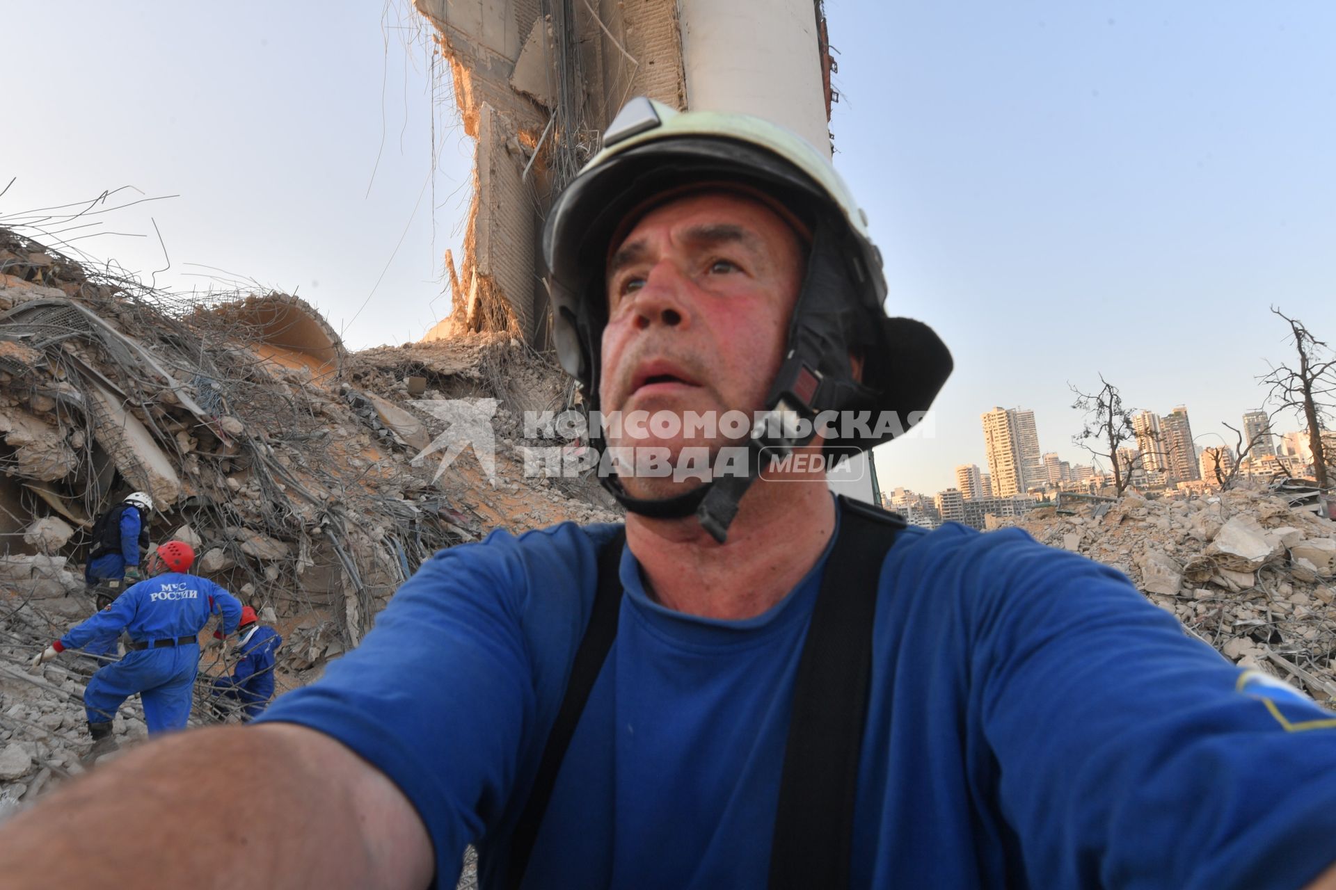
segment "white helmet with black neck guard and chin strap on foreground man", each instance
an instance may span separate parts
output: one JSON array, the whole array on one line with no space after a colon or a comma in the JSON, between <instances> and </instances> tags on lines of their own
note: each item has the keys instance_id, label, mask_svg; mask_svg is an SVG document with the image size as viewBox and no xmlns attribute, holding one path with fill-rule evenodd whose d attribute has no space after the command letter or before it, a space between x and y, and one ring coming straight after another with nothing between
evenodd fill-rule
<instances>
[{"instance_id":1,"label":"white helmet with black neck guard and chin strap on foreground man","mask_svg":"<svg viewBox=\"0 0 1336 890\"><path fill-rule=\"evenodd\" d=\"M679 112L645 97L627 103L603 144L557 197L542 234L557 355L582 384L589 408L599 407L600 347L608 323L604 274L613 242L676 196L731 189L776 203L796 223L807 248L786 358L771 382L767 411L806 418L823 411L874 416L894 411L902 419L899 430L922 416L951 372L951 355L921 322L886 316L882 255L868 238L867 217L820 152L759 117ZM863 359L858 375L850 367L854 355ZM891 435L826 443L871 448ZM808 440L755 430L751 444L787 448ZM695 512L723 540L754 479L719 478L660 500L631 498L615 476L603 482L627 510L651 516Z\"/></svg>"}]
</instances>

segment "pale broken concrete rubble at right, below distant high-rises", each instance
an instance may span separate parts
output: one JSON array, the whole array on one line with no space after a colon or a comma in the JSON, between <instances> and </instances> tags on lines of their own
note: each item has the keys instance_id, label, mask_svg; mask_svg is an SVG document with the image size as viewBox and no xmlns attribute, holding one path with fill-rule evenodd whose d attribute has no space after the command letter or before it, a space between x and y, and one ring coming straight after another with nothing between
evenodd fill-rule
<instances>
[{"instance_id":1,"label":"pale broken concrete rubble at right, below distant high-rises","mask_svg":"<svg viewBox=\"0 0 1336 890\"><path fill-rule=\"evenodd\" d=\"M1336 523L1265 490L1055 507L1015 524L1128 575L1232 662L1336 705Z\"/></svg>"}]
</instances>

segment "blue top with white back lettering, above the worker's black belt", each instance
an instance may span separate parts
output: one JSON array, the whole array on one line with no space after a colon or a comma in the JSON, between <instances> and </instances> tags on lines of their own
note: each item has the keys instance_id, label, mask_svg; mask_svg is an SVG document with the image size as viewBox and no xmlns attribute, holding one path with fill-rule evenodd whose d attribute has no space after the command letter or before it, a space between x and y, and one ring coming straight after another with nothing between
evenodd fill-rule
<instances>
[{"instance_id":1,"label":"blue top with white back lettering, above the worker's black belt","mask_svg":"<svg viewBox=\"0 0 1336 890\"><path fill-rule=\"evenodd\" d=\"M167 572L128 587L110 608L71 627L60 644L83 648L94 638L123 628L136 642L191 636L219 612L223 632L235 631L242 619L239 599L207 578Z\"/></svg>"}]
</instances>

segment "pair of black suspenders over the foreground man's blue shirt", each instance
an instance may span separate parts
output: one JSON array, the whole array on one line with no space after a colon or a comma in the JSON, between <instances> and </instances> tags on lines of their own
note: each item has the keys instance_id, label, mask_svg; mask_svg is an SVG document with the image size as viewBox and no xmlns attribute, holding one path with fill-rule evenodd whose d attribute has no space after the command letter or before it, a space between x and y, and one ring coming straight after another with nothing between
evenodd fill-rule
<instances>
[{"instance_id":1,"label":"pair of black suspenders over the foreground man's blue shirt","mask_svg":"<svg viewBox=\"0 0 1336 890\"><path fill-rule=\"evenodd\" d=\"M794 686L771 845L772 890L847 887L850 881L858 761L872 675L876 582L904 520L843 496L839 508L839 538L826 560ZM624 546L623 531L599 552L599 587L589 626L576 651L533 791L510 841L512 889L524 881L561 761L617 635Z\"/></svg>"}]
</instances>

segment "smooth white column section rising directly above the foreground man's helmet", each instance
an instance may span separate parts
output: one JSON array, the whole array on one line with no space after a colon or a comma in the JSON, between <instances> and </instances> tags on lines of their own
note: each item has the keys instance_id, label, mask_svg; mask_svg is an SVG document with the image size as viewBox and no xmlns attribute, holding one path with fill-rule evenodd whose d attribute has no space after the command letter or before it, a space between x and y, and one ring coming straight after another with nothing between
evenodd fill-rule
<instances>
[{"instance_id":1,"label":"smooth white column section rising directly above the foreground man's helmet","mask_svg":"<svg viewBox=\"0 0 1336 890\"><path fill-rule=\"evenodd\" d=\"M788 127L830 156L812 0L680 0L687 107Z\"/></svg>"}]
</instances>

